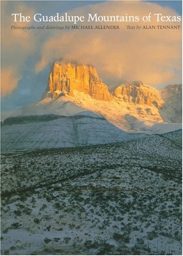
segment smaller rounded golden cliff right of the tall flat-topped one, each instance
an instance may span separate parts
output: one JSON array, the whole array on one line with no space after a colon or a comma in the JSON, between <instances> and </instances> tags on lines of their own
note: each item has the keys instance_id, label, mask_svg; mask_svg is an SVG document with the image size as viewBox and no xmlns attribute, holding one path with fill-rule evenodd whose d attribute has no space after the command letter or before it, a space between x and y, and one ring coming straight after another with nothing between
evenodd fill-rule
<instances>
[{"instance_id":1,"label":"smaller rounded golden cliff right of the tall flat-topped one","mask_svg":"<svg viewBox=\"0 0 183 256\"><path fill-rule=\"evenodd\" d=\"M159 108L164 101L157 89L144 85L141 81L126 82L114 91L114 96L126 102Z\"/></svg>"}]
</instances>

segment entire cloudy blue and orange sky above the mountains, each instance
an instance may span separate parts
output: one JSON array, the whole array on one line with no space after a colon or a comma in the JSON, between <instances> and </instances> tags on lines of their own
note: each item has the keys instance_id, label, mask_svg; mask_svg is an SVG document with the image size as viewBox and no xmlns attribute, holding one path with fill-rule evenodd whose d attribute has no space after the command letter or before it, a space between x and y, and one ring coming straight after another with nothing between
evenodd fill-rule
<instances>
[{"instance_id":1,"label":"entire cloudy blue and orange sky above the mountains","mask_svg":"<svg viewBox=\"0 0 183 256\"><path fill-rule=\"evenodd\" d=\"M38 101L48 83L50 64L74 59L96 67L112 90L141 80L155 88L181 83L181 30L132 30L127 25L181 25L181 22L97 22L120 30L20 30L11 26L64 26L66 23L13 22L11 13L43 15L181 15L181 1L2 1L1 107L16 109ZM92 25L82 23L82 25ZM68 24L67 25L72 25ZM81 25L81 24L78 24Z\"/></svg>"}]
</instances>

